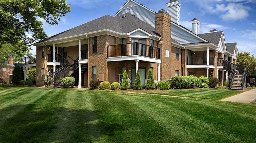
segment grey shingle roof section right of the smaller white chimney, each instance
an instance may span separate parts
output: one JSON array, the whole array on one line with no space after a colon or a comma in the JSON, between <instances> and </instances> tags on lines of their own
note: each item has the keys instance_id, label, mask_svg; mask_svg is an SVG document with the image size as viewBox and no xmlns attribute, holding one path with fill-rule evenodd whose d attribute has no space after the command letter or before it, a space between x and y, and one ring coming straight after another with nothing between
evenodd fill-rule
<instances>
[{"instance_id":1,"label":"grey shingle roof section right of the smaller white chimney","mask_svg":"<svg viewBox=\"0 0 256 143\"><path fill-rule=\"evenodd\" d=\"M210 33L205 33L205 34L198 34L198 36L200 36L201 38L203 38L203 39L211 42L212 44L218 46L222 33L223 33L223 31L210 32Z\"/></svg>"}]
</instances>

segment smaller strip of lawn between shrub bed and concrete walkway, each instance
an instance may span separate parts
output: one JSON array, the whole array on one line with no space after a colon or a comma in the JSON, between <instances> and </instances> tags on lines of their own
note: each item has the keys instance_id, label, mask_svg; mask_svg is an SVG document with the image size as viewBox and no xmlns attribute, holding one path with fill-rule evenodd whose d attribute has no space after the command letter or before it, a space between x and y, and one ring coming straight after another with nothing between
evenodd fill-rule
<instances>
[{"instance_id":1,"label":"smaller strip of lawn between shrub bed and concrete walkway","mask_svg":"<svg viewBox=\"0 0 256 143\"><path fill-rule=\"evenodd\" d=\"M176 89L144 93L220 100L242 92L244 91L227 89Z\"/></svg>"}]
</instances>

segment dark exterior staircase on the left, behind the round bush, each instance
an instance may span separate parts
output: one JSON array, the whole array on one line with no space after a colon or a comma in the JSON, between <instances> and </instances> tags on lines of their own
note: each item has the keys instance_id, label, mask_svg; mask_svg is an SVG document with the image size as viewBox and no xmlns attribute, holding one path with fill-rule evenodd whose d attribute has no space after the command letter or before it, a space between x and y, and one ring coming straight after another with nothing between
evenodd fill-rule
<instances>
[{"instance_id":1,"label":"dark exterior staircase on the left, behind the round bush","mask_svg":"<svg viewBox=\"0 0 256 143\"><path fill-rule=\"evenodd\" d=\"M79 71L79 64L78 64L79 57L74 60L74 64L70 65L69 62L67 62L66 65L62 66L57 71L51 73L48 75L48 77L45 79L45 83L47 85L47 88L58 88L61 86L61 80L68 76L74 76ZM82 74L85 73L88 70L88 64L82 64Z\"/></svg>"}]
</instances>

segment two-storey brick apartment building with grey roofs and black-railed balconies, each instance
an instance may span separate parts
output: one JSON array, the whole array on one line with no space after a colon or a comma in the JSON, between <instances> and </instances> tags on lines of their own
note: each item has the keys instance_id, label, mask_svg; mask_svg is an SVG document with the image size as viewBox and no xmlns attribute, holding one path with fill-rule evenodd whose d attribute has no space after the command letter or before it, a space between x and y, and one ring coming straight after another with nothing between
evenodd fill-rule
<instances>
[{"instance_id":1,"label":"two-storey brick apartment building with grey roofs and black-railed balconies","mask_svg":"<svg viewBox=\"0 0 256 143\"><path fill-rule=\"evenodd\" d=\"M223 84L236 61L236 43L226 44L223 31L199 34L196 18L192 31L186 29L179 24L180 2L166 6L167 11L156 13L128 0L114 17L105 15L34 43L37 54L26 57L24 67L36 67L36 85L47 78L54 88L66 76L75 77L78 87L92 79L118 82L124 70L132 84L139 70L144 87L149 69L154 80L204 75Z\"/></svg>"}]
</instances>

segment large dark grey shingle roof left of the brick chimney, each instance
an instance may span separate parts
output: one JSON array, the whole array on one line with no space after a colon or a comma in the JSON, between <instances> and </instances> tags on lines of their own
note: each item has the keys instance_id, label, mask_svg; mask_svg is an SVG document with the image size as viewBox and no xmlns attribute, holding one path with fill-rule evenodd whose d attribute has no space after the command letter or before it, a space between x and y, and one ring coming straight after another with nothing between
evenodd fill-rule
<instances>
[{"instance_id":1,"label":"large dark grey shingle roof left of the brick chimney","mask_svg":"<svg viewBox=\"0 0 256 143\"><path fill-rule=\"evenodd\" d=\"M123 15L125 15L126 17L122 18ZM37 43L81 35L104 29L112 30L119 33L128 33L135 29L141 28L150 34L156 35L153 33L153 31L155 31L155 28L146 24L139 18L132 16L130 13L125 13L123 15L118 17L105 15L90 22L87 22L85 24L79 25L77 27L71 28L64 32L51 36L49 37L49 39L41 40Z\"/></svg>"}]
</instances>

